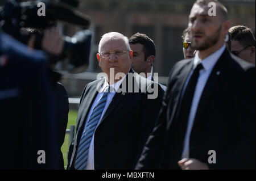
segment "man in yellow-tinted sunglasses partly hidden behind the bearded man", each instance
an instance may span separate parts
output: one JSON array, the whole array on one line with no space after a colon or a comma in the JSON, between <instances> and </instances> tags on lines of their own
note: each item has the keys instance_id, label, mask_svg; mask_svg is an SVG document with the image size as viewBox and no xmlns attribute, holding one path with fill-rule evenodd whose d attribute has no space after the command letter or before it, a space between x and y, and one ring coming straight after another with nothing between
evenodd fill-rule
<instances>
[{"instance_id":1,"label":"man in yellow-tinted sunglasses partly hidden behind the bearded man","mask_svg":"<svg viewBox=\"0 0 256 181\"><path fill-rule=\"evenodd\" d=\"M189 29L186 28L182 33L183 39L183 54L185 59L195 57L196 49L191 47L191 39L189 37Z\"/></svg>"}]
</instances>

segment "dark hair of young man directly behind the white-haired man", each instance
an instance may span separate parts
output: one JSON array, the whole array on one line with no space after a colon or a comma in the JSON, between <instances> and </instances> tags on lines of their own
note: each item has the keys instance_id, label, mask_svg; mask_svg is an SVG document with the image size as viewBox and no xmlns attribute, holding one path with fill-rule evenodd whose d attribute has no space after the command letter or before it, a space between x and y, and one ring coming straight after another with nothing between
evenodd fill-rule
<instances>
[{"instance_id":1,"label":"dark hair of young man directly behind the white-haired man","mask_svg":"<svg viewBox=\"0 0 256 181\"><path fill-rule=\"evenodd\" d=\"M155 56L155 43L150 37L143 33L136 33L129 38L129 44L142 44L145 61L147 60L148 56L154 55Z\"/></svg>"}]
</instances>

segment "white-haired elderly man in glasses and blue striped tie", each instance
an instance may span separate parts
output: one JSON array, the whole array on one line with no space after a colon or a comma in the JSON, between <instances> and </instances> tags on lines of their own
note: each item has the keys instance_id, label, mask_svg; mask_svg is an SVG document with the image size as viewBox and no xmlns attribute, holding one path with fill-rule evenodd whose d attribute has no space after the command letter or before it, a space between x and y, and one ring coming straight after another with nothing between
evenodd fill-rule
<instances>
[{"instance_id":1,"label":"white-haired elderly man in glasses and blue striped tie","mask_svg":"<svg viewBox=\"0 0 256 181\"><path fill-rule=\"evenodd\" d=\"M105 78L82 92L68 169L133 169L154 127L163 91L131 69L127 37L102 36L97 59Z\"/></svg>"}]
</instances>

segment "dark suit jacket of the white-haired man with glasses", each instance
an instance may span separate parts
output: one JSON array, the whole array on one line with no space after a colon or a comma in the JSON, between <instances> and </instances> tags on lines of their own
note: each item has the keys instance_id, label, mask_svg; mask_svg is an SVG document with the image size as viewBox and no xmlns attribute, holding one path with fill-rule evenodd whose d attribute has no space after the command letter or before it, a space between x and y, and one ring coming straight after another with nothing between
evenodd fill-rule
<instances>
[{"instance_id":1,"label":"dark suit jacket of the white-haired man with glasses","mask_svg":"<svg viewBox=\"0 0 256 181\"><path fill-rule=\"evenodd\" d=\"M149 92L143 92L141 89L144 86L143 81L139 83L138 77L140 76L137 73L135 77L132 78L133 85L139 87L139 92L116 92L96 129L94 134L95 169L133 169L146 138L154 127L160 110L163 91L157 83L154 83L154 86L157 86L158 97L148 99ZM127 80L128 83L129 79L126 76L124 81ZM141 77L141 79L145 78ZM148 90L153 82L147 79L146 81ZM86 117L97 96L98 83L102 85L104 79L90 82L82 92L76 136L69 148L68 169L74 169L77 147ZM129 85L126 85L127 89L128 87Z\"/></svg>"}]
</instances>

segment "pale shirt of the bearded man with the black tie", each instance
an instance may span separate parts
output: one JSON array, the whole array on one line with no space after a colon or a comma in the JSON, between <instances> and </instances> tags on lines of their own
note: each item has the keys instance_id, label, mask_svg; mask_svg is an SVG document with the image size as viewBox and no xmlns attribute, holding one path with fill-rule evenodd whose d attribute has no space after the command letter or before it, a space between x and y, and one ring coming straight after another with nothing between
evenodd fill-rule
<instances>
[{"instance_id":1,"label":"pale shirt of the bearded man with the black tie","mask_svg":"<svg viewBox=\"0 0 256 181\"><path fill-rule=\"evenodd\" d=\"M226 48L226 46L223 45L220 49L218 49L216 52L210 54L208 57L204 58L203 60L200 60L200 58L199 58L199 51L196 52L195 60L193 62L193 69L189 73L188 78L185 82L182 96L184 94L185 87L187 87L188 81L191 78L191 75L196 68L196 65L201 62L204 69L201 69L199 71L199 78L197 79L195 93L194 93L194 96L192 99L192 104L191 104L191 110L189 112L187 132L186 132L185 138L184 138L184 147L183 147L183 153L181 155L181 159L189 158L189 140L190 140L191 130L193 127L193 122L194 122L195 115L196 115L197 106L199 104L199 100L201 98L204 87L207 83L207 80L210 76L210 73L212 72L214 65L217 63L218 59L220 58L221 54L224 52L225 48Z\"/></svg>"}]
</instances>

